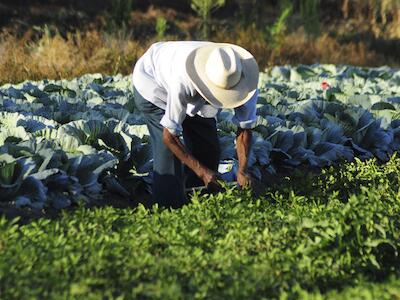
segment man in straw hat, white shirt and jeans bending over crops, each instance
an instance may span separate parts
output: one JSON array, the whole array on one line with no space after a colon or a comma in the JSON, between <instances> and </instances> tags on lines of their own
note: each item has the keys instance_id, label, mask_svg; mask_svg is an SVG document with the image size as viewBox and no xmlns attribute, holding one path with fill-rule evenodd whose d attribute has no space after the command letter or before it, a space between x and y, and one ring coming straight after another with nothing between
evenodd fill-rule
<instances>
[{"instance_id":1,"label":"man in straw hat, white shirt and jeans bending over crops","mask_svg":"<svg viewBox=\"0 0 400 300\"><path fill-rule=\"evenodd\" d=\"M216 115L221 108L235 108L237 181L250 184L258 66L247 50L198 41L155 43L136 63L132 82L135 105L150 132L155 202L180 207L187 202L185 186L218 185Z\"/></svg>"}]
</instances>

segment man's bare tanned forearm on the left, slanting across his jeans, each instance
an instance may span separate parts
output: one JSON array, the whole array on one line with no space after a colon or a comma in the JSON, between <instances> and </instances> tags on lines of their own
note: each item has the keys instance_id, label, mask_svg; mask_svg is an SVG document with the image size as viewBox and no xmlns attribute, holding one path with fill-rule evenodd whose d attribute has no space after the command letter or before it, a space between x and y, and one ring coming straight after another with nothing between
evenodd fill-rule
<instances>
[{"instance_id":1,"label":"man's bare tanned forearm on the left, slanting across his jeans","mask_svg":"<svg viewBox=\"0 0 400 300\"><path fill-rule=\"evenodd\" d=\"M193 172L196 173L200 178L203 176L205 167L193 157L185 148L185 146L179 140L179 137L171 134L168 129L163 131L163 142L171 150L171 152L186 166L188 166Z\"/></svg>"}]
</instances>

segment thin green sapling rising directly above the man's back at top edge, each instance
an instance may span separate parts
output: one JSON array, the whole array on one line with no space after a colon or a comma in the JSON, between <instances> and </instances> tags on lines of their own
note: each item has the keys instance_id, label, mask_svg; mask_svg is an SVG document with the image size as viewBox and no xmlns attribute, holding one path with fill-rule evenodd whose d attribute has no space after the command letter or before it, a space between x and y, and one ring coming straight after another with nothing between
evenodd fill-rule
<instances>
[{"instance_id":1,"label":"thin green sapling rising directly above the man's back at top edge","mask_svg":"<svg viewBox=\"0 0 400 300\"><path fill-rule=\"evenodd\" d=\"M191 7L201 18L201 38L210 36L211 14L225 5L225 0L191 0Z\"/></svg>"}]
</instances>

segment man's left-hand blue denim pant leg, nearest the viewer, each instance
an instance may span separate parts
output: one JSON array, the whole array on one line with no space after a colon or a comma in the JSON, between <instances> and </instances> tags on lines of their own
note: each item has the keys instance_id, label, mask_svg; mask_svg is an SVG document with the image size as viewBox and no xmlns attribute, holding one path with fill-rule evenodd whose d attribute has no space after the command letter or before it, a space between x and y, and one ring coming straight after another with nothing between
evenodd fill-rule
<instances>
[{"instance_id":1,"label":"man's left-hand blue denim pant leg, nearest the viewer","mask_svg":"<svg viewBox=\"0 0 400 300\"><path fill-rule=\"evenodd\" d=\"M165 207L178 208L187 203L181 162L163 142L160 124L165 111L144 99L134 90L136 108L143 114L153 150L153 198Z\"/></svg>"}]
</instances>

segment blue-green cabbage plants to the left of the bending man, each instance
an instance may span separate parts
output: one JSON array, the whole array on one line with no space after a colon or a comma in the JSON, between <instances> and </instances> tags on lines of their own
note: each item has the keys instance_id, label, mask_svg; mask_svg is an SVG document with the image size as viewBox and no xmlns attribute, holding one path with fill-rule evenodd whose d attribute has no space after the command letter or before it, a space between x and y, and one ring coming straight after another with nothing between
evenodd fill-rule
<instances>
[{"instance_id":1,"label":"blue-green cabbage plants to the left of the bending man","mask_svg":"<svg viewBox=\"0 0 400 300\"><path fill-rule=\"evenodd\" d=\"M128 197L120 176L149 183L148 131L132 99L122 76L2 86L0 201L64 208L104 189Z\"/></svg>"}]
</instances>

